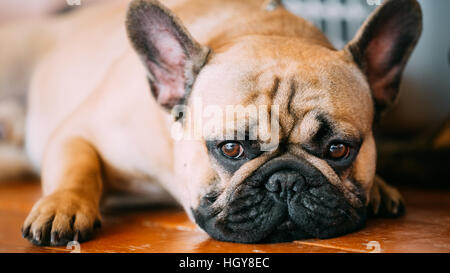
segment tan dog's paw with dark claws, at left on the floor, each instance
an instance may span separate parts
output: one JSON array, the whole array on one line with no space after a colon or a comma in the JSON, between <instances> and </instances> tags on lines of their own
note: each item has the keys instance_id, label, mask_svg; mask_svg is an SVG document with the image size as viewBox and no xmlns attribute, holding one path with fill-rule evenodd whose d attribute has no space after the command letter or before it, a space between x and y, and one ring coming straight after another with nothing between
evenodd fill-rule
<instances>
[{"instance_id":1,"label":"tan dog's paw with dark claws, at left on the floor","mask_svg":"<svg viewBox=\"0 0 450 273\"><path fill-rule=\"evenodd\" d=\"M72 191L39 200L22 227L22 236L35 245L62 246L87 241L100 227L98 205Z\"/></svg>"}]
</instances>

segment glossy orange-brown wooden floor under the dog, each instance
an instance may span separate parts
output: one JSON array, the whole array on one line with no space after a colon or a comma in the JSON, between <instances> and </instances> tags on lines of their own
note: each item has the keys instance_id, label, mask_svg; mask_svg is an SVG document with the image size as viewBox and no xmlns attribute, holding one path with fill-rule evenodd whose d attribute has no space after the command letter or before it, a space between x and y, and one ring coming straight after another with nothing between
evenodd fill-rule
<instances>
[{"instance_id":1,"label":"glossy orange-brown wooden floor under the dog","mask_svg":"<svg viewBox=\"0 0 450 273\"><path fill-rule=\"evenodd\" d=\"M210 239L177 209L121 210L104 215L101 231L81 252L450 252L450 192L402 189L407 214L372 219L366 228L328 240L235 244ZM37 182L0 185L0 252L70 252L36 247L20 227L40 196Z\"/></svg>"}]
</instances>

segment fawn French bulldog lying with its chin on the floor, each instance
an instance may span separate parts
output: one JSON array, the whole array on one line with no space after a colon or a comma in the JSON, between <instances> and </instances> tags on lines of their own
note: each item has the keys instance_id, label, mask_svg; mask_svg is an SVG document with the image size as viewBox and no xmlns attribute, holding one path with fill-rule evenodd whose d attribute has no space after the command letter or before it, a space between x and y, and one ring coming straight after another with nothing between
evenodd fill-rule
<instances>
[{"instance_id":1,"label":"fawn French bulldog lying with its chin on the floor","mask_svg":"<svg viewBox=\"0 0 450 273\"><path fill-rule=\"evenodd\" d=\"M277 1L111 1L67 16L28 95L25 147L43 189L22 227L33 244L91 239L113 191L168 194L239 243L335 237L403 213L376 175L372 130L420 37L416 0L385 1L343 50ZM211 124L203 106L236 105L269 118L240 138L210 126L174 139ZM275 145L251 138L255 124Z\"/></svg>"}]
</instances>

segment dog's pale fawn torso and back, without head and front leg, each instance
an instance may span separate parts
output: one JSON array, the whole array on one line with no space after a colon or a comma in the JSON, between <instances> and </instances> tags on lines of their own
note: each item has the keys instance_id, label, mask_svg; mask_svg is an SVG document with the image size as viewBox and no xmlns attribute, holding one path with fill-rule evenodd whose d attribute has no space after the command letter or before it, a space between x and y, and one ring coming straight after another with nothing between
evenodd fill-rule
<instances>
[{"instance_id":1,"label":"dog's pale fawn torso and back, without head and front leg","mask_svg":"<svg viewBox=\"0 0 450 273\"><path fill-rule=\"evenodd\" d=\"M297 32L331 48L326 38L311 24L285 10L279 10L276 12L278 14L265 11L261 1L230 1L225 6L220 2L204 1L198 4L204 7L201 16L195 13L195 5L190 1L168 1L165 4L175 12L182 10L177 14L188 28L192 25L191 33L213 50L215 48L211 42L227 42L220 35L217 37L217 33L223 33L222 36L240 36L246 32L270 34L275 31ZM164 181L161 185L165 185L170 191L179 190L182 193L185 189L176 182L179 179L173 177L173 155L168 152L173 150L173 140L170 137L173 118L154 103L151 93L142 92L142 88L148 89L148 82L146 72L126 38L123 22L127 5L124 1L118 1L114 5L107 5L106 9L98 7L86 10L86 15L77 14L79 18L74 22L83 22L85 25L78 27L78 31L70 30L74 33L71 41L63 42L37 68L29 96L26 140L28 155L33 165L41 169L41 164L45 162L44 150L55 129L63 121L72 123L68 119L79 119L79 125L64 127L73 130L69 133L71 136L79 135L92 141L103 161L111 168L108 171L114 173L113 176L123 177L125 181ZM189 8L194 11L189 12ZM219 10L223 21L217 18ZM196 15L193 16L192 13ZM256 20L263 22L277 22L277 17L283 18L287 14L295 23L289 24L288 30L273 30L273 23L266 24L265 29L264 24L258 22L247 24L243 18L247 18L244 14L249 16L249 13L255 13L253 16ZM247 19L255 20L252 17ZM239 22L239 25L248 26L248 30L227 24L229 21L237 21L236 18L241 18L243 22ZM258 27L255 28L254 25ZM70 25L66 28L72 29ZM220 28L230 28L231 31ZM211 41L212 39L215 41ZM92 47L101 50L93 50ZM80 61L82 64L75 63ZM61 67L64 69L60 69ZM52 80L48 81L48 77ZM109 84L116 87L105 86ZM119 84L122 87L118 88ZM99 107L98 103L102 106ZM108 109L107 105L113 108ZM100 116L105 119L94 121L93 117ZM92 123L89 124L88 121ZM143 124L151 126L142 126ZM111 140L107 141L108 139ZM118 145L120 142L123 144ZM132 152L133 146L139 147L135 153ZM143 148L148 150L144 152ZM174 182L177 184L172 184ZM55 186L53 183L49 183L50 185ZM119 186L123 187L122 183ZM52 191L46 187L44 184L44 193ZM179 193L175 196L179 196Z\"/></svg>"}]
</instances>

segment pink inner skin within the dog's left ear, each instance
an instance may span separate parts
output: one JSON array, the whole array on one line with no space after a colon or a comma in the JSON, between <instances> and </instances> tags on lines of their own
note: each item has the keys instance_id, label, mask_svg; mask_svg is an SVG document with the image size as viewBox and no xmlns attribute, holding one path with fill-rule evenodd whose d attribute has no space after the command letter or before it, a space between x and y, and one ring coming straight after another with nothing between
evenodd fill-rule
<instances>
[{"instance_id":1,"label":"pink inner skin within the dog's left ear","mask_svg":"<svg viewBox=\"0 0 450 273\"><path fill-rule=\"evenodd\" d=\"M153 45L157 48L158 63L148 62L156 79L152 90L161 105L172 107L184 97L186 54L174 35L163 27L151 27Z\"/></svg>"}]
</instances>

